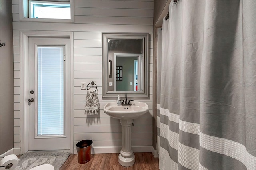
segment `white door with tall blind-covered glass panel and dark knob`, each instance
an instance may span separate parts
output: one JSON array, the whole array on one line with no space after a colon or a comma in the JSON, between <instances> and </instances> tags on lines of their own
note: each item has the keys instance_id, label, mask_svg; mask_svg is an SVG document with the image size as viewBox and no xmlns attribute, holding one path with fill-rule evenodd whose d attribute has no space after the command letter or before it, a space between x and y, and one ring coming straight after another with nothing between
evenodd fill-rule
<instances>
[{"instance_id":1,"label":"white door with tall blind-covered glass panel and dark knob","mask_svg":"<svg viewBox=\"0 0 256 170\"><path fill-rule=\"evenodd\" d=\"M69 150L70 39L29 38L28 150Z\"/></svg>"}]
</instances>

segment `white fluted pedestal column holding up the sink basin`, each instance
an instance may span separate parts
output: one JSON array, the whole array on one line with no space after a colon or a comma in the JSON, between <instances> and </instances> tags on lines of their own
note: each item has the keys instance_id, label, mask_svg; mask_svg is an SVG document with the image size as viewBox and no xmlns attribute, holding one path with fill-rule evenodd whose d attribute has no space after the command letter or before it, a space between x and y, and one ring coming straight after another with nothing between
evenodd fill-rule
<instances>
[{"instance_id":1,"label":"white fluted pedestal column holding up the sink basin","mask_svg":"<svg viewBox=\"0 0 256 170\"><path fill-rule=\"evenodd\" d=\"M118 156L118 162L122 166L132 166L135 156L131 149L131 127L132 120L120 120L122 125L122 150Z\"/></svg>"}]
</instances>

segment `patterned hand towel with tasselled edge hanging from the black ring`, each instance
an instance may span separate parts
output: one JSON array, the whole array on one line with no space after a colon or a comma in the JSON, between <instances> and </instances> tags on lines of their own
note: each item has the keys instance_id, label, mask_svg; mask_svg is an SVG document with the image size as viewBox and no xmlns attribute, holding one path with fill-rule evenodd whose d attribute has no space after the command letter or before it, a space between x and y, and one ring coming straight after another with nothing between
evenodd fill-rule
<instances>
[{"instance_id":1,"label":"patterned hand towel with tasselled edge hanging from the black ring","mask_svg":"<svg viewBox=\"0 0 256 170\"><path fill-rule=\"evenodd\" d=\"M98 115L100 109L99 99L96 91L87 91L86 103L85 103L85 114L87 115Z\"/></svg>"}]
</instances>

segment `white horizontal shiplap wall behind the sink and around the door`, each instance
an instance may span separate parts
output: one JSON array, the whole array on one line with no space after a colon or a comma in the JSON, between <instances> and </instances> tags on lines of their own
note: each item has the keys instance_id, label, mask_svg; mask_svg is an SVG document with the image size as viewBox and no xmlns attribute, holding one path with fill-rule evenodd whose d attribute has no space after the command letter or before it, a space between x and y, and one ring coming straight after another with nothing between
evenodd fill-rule
<instances>
[{"instance_id":1,"label":"white horizontal shiplap wall behind the sink and around the door","mask_svg":"<svg viewBox=\"0 0 256 170\"><path fill-rule=\"evenodd\" d=\"M80 140L93 140L94 152L119 152L121 125L103 112L111 100L102 99L102 32L150 33L150 111L135 120L132 146L149 152L152 146L153 0L74 0L74 23L20 22L18 0L12 0L14 51L14 148L20 148L20 30L72 31L74 34L74 147ZM86 90L81 82L94 81L100 100L99 115L85 115ZM151 151L151 150L150 150ZM19 154L17 153L14 154Z\"/></svg>"}]
</instances>

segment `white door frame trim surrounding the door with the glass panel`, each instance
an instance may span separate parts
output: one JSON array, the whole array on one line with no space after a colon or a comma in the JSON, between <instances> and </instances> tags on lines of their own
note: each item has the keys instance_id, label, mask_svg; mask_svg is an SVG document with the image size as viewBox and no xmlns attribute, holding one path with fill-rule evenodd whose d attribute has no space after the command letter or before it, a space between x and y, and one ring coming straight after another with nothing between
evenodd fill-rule
<instances>
[{"instance_id":1,"label":"white door frame trim surrounding the door with the glass panel","mask_svg":"<svg viewBox=\"0 0 256 170\"><path fill-rule=\"evenodd\" d=\"M71 45L71 54L70 59L71 62L69 67L71 69L71 77L67 77L70 79L70 84L67 85L70 88L70 91L67 91L67 103L70 103L70 106L67 106L66 111L69 111L70 114L70 152L74 152L74 133L73 133L73 117L74 117L74 69L73 69L73 33L72 32L62 32L62 31L20 31L20 154L24 154L28 151L28 97L29 97L29 89L28 89L28 38L29 37L58 37L58 38L69 38Z\"/></svg>"}]
</instances>

